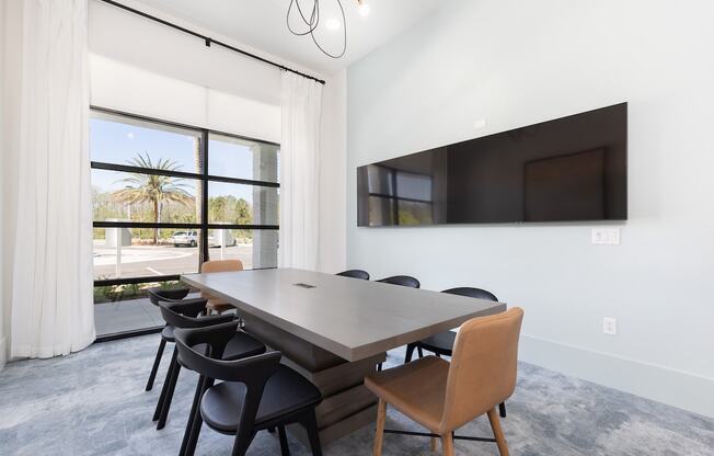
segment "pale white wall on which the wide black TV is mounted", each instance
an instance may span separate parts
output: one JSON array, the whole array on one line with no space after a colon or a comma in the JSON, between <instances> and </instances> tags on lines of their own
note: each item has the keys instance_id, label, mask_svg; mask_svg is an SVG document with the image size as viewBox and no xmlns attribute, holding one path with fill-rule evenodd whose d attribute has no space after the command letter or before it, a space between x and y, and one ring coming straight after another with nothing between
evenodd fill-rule
<instances>
[{"instance_id":1,"label":"pale white wall on which the wide black TV is mounted","mask_svg":"<svg viewBox=\"0 0 714 456\"><path fill-rule=\"evenodd\" d=\"M348 265L491 289L526 309L521 360L714 415L713 14L703 0L452 0L352 66ZM590 244L587 224L356 228L358 166L622 101L619 247Z\"/></svg>"}]
</instances>

